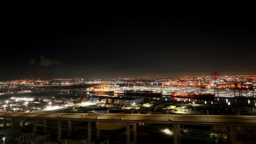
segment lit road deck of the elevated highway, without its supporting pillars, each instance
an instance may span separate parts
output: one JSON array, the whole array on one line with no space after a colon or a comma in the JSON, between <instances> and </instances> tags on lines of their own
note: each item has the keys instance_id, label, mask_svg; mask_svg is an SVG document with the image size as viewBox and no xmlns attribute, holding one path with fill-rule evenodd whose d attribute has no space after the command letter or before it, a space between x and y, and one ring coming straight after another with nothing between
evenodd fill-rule
<instances>
[{"instance_id":1,"label":"lit road deck of the elevated highway, without its supporting pillars","mask_svg":"<svg viewBox=\"0 0 256 144\"><path fill-rule=\"evenodd\" d=\"M72 121L113 121L180 124L256 125L256 116L213 115L142 115L142 114L88 114L88 113L0 113L0 118L62 119ZM96 118L97 117L97 118ZM123 119L120 119L123 118ZM172 120L171 120L172 119Z\"/></svg>"}]
</instances>

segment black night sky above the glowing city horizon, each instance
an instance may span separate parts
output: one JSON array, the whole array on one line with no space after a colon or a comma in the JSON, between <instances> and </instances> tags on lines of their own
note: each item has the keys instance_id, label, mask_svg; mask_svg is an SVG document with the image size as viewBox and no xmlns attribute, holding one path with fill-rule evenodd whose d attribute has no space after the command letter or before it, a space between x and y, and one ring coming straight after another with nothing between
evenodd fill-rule
<instances>
[{"instance_id":1,"label":"black night sky above the glowing city horizon","mask_svg":"<svg viewBox=\"0 0 256 144\"><path fill-rule=\"evenodd\" d=\"M250 4L13 3L0 79L256 74Z\"/></svg>"}]
</instances>

